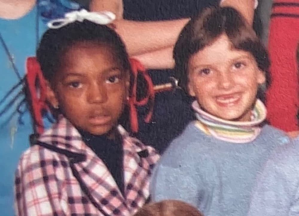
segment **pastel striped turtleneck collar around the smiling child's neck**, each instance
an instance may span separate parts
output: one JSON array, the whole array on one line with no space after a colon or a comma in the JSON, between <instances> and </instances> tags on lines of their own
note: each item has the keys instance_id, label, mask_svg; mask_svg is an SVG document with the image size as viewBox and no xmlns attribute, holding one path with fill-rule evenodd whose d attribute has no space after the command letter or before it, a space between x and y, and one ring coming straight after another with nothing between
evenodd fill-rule
<instances>
[{"instance_id":1,"label":"pastel striped turtleneck collar around the smiling child's neck","mask_svg":"<svg viewBox=\"0 0 299 216\"><path fill-rule=\"evenodd\" d=\"M251 121L228 121L215 117L203 111L198 102L194 101L192 107L196 112L196 127L205 134L219 140L231 143L248 143L253 141L261 131L260 124L266 119L266 107L259 99L252 110Z\"/></svg>"}]
</instances>

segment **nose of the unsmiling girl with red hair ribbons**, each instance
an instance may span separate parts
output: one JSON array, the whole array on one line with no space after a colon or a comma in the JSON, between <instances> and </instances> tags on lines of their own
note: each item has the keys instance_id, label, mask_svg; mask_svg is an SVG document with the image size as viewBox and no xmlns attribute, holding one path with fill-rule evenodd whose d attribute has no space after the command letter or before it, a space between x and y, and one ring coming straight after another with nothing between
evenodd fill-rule
<instances>
[{"instance_id":1,"label":"nose of the unsmiling girl with red hair ribbons","mask_svg":"<svg viewBox=\"0 0 299 216\"><path fill-rule=\"evenodd\" d=\"M87 92L87 101L89 103L104 103L108 99L107 88L105 85L94 82L92 83Z\"/></svg>"}]
</instances>

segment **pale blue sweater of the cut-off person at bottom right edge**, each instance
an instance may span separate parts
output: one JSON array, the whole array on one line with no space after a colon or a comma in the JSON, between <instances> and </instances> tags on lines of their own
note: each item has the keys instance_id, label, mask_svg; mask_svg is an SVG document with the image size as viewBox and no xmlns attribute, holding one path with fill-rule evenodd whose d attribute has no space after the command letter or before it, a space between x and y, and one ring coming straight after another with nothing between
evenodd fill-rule
<instances>
[{"instance_id":1,"label":"pale blue sweater of the cut-off person at bottom right edge","mask_svg":"<svg viewBox=\"0 0 299 216\"><path fill-rule=\"evenodd\" d=\"M299 215L299 137L278 147L253 193L249 216Z\"/></svg>"}]
</instances>

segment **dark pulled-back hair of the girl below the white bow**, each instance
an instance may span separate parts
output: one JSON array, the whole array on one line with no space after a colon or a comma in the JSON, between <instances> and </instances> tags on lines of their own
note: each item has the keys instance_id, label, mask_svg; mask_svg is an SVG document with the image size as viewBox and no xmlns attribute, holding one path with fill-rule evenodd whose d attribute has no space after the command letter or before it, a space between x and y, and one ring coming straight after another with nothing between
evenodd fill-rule
<instances>
[{"instance_id":1,"label":"dark pulled-back hair of the girl below the white bow","mask_svg":"<svg viewBox=\"0 0 299 216\"><path fill-rule=\"evenodd\" d=\"M106 25L85 20L58 29L49 29L44 33L36 57L45 79L52 82L60 67L62 55L78 42L92 42L111 47L123 71L130 71L129 57L118 34Z\"/></svg>"}]
</instances>

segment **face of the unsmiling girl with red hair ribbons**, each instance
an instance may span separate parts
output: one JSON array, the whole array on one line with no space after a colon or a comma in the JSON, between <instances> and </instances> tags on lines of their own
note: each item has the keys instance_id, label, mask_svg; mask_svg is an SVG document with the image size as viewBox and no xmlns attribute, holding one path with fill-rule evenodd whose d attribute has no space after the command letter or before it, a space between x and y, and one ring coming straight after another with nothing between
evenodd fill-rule
<instances>
[{"instance_id":1,"label":"face of the unsmiling girl with red hair ribbons","mask_svg":"<svg viewBox=\"0 0 299 216\"><path fill-rule=\"evenodd\" d=\"M72 124L94 135L115 127L128 96L129 72L122 71L112 52L93 43L73 45L62 56L49 93L52 105L59 105Z\"/></svg>"}]
</instances>

